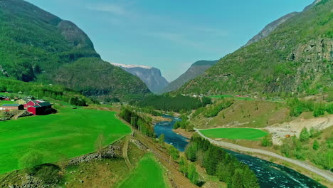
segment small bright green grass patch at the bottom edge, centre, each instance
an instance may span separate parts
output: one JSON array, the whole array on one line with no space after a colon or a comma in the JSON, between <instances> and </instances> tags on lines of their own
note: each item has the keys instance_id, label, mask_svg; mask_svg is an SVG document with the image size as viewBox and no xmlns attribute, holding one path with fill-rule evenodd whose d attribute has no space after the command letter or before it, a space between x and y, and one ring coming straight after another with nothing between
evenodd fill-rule
<instances>
[{"instance_id":1,"label":"small bright green grass patch at the bottom edge, centre","mask_svg":"<svg viewBox=\"0 0 333 188\"><path fill-rule=\"evenodd\" d=\"M154 155L147 154L139 162L137 169L125 179L119 188L154 188L167 187L164 181L164 170L154 159Z\"/></svg>"}]
</instances>

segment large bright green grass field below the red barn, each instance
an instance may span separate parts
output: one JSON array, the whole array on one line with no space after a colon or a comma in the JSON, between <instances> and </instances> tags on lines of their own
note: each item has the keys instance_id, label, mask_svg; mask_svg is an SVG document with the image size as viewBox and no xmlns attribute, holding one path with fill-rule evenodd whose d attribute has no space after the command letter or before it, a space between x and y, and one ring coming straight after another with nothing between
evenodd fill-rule
<instances>
[{"instance_id":1,"label":"large bright green grass field below the red barn","mask_svg":"<svg viewBox=\"0 0 333 188\"><path fill-rule=\"evenodd\" d=\"M43 162L56 162L93 152L100 134L109 145L131 132L112 112L55 107L56 114L0 122L0 174L19 169L18 160L31 150L43 153Z\"/></svg>"}]
</instances>

